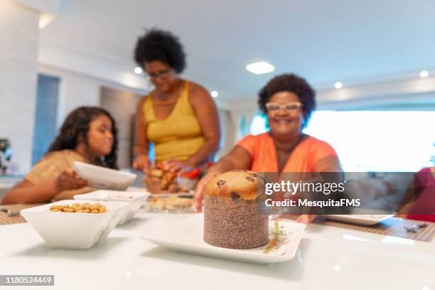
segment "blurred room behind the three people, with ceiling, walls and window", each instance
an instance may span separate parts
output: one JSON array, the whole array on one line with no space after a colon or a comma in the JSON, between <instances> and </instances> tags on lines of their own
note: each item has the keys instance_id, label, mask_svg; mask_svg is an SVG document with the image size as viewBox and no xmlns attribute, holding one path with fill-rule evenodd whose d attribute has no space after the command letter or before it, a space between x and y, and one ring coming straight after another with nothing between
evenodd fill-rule
<instances>
[{"instance_id":1,"label":"blurred room behind the three people, with ceiling, walls and window","mask_svg":"<svg viewBox=\"0 0 435 290\"><path fill-rule=\"evenodd\" d=\"M218 104L218 157L267 129L257 92L274 75L296 73L317 92L305 131L334 146L345 171L431 166L434 1L1 0L4 188L41 159L82 105L114 115L119 166L131 166L136 104L151 90L133 50L153 27L180 37L188 55L182 77ZM274 70L246 69L260 61Z\"/></svg>"}]
</instances>

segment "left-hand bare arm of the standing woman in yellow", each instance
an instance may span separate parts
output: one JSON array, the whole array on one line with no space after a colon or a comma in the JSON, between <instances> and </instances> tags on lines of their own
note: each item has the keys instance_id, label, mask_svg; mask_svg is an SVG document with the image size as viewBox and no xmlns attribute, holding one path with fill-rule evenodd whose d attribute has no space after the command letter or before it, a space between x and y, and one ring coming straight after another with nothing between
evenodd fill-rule
<instances>
[{"instance_id":1,"label":"left-hand bare arm of the standing woman in yellow","mask_svg":"<svg viewBox=\"0 0 435 290\"><path fill-rule=\"evenodd\" d=\"M135 136L134 136L134 162L133 167L139 170L146 170L150 163L148 159L148 139L146 139L146 124L144 117L145 97L139 102L136 108Z\"/></svg>"}]
</instances>

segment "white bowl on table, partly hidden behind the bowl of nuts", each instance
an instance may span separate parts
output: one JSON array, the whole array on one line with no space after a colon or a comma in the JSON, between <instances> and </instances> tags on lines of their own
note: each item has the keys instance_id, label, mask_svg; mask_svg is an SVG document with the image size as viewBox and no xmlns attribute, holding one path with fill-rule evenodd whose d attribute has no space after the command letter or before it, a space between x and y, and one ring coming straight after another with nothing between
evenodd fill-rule
<instances>
[{"instance_id":1,"label":"white bowl on table, partly hidden behind the bowl of nuts","mask_svg":"<svg viewBox=\"0 0 435 290\"><path fill-rule=\"evenodd\" d=\"M121 220L118 225L123 225L131 220L134 214L144 205L149 193L146 191L118 191L118 190L96 190L92 193L74 195L75 200L90 200L90 201L117 201L129 203L124 209Z\"/></svg>"}]
</instances>

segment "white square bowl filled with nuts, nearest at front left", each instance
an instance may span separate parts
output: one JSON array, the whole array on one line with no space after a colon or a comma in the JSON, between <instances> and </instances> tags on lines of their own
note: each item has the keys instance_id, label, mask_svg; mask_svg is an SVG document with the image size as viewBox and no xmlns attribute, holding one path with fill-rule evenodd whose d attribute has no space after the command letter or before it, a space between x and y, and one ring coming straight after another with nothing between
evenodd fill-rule
<instances>
[{"instance_id":1,"label":"white square bowl filled with nuts, nearest at front left","mask_svg":"<svg viewBox=\"0 0 435 290\"><path fill-rule=\"evenodd\" d=\"M52 247L64 249L90 249L104 242L119 222L128 203L100 203L106 213L50 212L52 205L72 205L77 200L60 200L48 205L21 210L21 215L32 225L43 240Z\"/></svg>"}]
</instances>

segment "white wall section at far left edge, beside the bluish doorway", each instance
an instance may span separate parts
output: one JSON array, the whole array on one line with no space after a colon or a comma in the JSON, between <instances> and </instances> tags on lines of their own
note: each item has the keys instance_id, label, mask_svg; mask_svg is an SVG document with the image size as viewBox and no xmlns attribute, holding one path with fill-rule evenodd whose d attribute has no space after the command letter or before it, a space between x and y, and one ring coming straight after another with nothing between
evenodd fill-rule
<instances>
[{"instance_id":1,"label":"white wall section at far left edge, beside the bluish doorway","mask_svg":"<svg viewBox=\"0 0 435 290\"><path fill-rule=\"evenodd\" d=\"M10 139L21 173L31 166L38 20L37 11L0 1L0 136Z\"/></svg>"}]
</instances>

